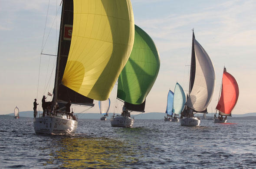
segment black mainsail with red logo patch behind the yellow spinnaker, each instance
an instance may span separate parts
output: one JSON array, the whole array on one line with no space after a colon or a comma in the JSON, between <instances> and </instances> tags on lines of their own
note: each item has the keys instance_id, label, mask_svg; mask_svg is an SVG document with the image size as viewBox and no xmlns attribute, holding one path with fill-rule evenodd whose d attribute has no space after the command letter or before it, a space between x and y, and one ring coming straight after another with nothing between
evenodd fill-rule
<instances>
[{"instance_id":1,"label":"black mainsail with red logo patch behind the yellow spinnaker","mask_svg":"<svg viewBox=\"0 0 256 169\"><path fill-rule=\"evenodd\" d=\"M62 85L62 77L66 68L69 55L69 49L72 37L73 26L73 0L62 1L62 15L59 31L59 46L57 54L57 66L54 87L54 105L56 103L66 103L71 101L72 104L94 106L93 99L83 96L70 88ZM57 88L57 91L56 91Z\"/></svg>"}]
</instances>

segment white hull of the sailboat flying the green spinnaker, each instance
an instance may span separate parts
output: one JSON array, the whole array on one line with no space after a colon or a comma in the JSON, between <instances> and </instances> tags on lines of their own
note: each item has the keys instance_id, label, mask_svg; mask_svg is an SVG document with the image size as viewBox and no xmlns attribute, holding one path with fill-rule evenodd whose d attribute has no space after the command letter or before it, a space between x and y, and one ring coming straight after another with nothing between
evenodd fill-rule
<instances>
[{"instance_id":1,"label":"white hull of the sailboat flying the green spinnaker","mask_svg":"<svg viewBox=\"0 0 256 169\"><path fill-rule=\"evenodd\" d=\"M114 116L110 119L110 123L113 127L132 127L134 119L131 119L131 117Z\"/></svg>"}]
</instances>

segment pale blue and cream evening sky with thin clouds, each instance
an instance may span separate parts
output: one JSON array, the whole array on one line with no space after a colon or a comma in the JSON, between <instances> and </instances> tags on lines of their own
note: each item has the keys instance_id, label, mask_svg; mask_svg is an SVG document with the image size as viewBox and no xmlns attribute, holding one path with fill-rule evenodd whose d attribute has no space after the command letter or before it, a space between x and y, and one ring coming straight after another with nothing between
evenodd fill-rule
<instances>
[{"instance_id":1,"label":"pale blue and cream evening sky with thin clouds","mask_svg":"<svg viewBox=\"0 0 256 169\"><path fill-rule=\"evenodd\" d=\"M40 53L56 55L60 1L0 0L0 114L13 113L16 106L20 111L33 110L34 98L41 104L43 94L53 91L56 57ZM240 90L232 113L256 112L255 0L131 0L131 4L135 24L154 40L161 59L158 78L146 98L146 113L165 112L167 93L174 91L176 82L188 90L193 28L216 73L208 111L215 112L225 66ZM115 99L116 89L110 95L110 112L119 113L122 103ZM95 107L85 112L98 111L95 101Z\"/></svg>"}]
</instances>

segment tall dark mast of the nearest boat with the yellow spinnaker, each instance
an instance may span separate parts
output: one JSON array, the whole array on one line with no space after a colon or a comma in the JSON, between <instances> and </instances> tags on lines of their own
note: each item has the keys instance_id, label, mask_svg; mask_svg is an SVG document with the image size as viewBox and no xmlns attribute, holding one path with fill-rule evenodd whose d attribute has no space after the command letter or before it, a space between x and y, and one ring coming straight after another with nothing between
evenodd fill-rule
<instances>
[{"instance_id":1,"label":"tall dark mast of the nearest boat with the yellow spinnaker","mask_svg":"<svg viewBox=\"0 0 256 169\"><path fill-rule=\"evenodd\" d=\"M57 66L56 66L56 73L55 73L55 93L54 93L54 101L53 107L56 108L57 97L58 97L58 79L59 79L59 61L60 61L60 46L61 46L61 37L62 37L62 29L63 29L63 12L64 12L65 0L62 1L62 11L61 11L61 21L60 21L60 28L59 28L59 44L58 44L58 54L57 54Z\"/></svg>"}]
</instances>

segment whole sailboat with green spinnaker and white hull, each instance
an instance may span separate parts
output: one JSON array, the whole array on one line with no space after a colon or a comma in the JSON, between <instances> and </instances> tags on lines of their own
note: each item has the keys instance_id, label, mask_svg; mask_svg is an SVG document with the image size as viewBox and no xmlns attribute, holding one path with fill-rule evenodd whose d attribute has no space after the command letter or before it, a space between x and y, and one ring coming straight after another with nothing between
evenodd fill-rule
<instances>
[{"instance_id":1,"label":"whole sailboat with green spinnaker and white hull","mask_svg":"<svg viewBox=\"0 0 256 169\"><path fill-rule=\"evenodd\" d=\"M113 127L132 127L131 112L144 112L145 99L157 78L160 68L158 50L151 37L135 25L131 55L118 78L117 99L124 102L121 115L111 118Z\"/></svg>"}]
</instances>

